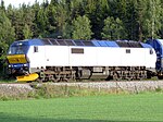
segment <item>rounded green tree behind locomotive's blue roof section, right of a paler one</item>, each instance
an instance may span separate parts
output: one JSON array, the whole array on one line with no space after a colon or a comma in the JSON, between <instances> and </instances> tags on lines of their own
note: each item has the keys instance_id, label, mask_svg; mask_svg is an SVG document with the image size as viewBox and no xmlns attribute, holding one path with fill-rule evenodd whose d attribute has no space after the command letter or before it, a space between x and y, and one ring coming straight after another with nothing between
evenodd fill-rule
<instances>
[{"instance_id":1,"label":"rounded green tree behind locomotive's blue roof section, right of a paler one","mask_svg":"<svg viewBox=\"0 0 163 122\"><path fill-rule=\"evenodd\" d=\"M117 17L106 17L104 20L104 27L102 29L102 38L104 39L125 39L125 28L123 22Z\"/></svg>"}]
</instances>

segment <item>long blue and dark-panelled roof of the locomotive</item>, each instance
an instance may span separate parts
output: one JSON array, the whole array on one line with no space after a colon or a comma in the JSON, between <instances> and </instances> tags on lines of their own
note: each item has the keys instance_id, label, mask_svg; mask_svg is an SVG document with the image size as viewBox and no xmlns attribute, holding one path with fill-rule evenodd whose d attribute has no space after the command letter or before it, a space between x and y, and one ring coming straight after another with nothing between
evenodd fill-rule
<instances>
[{"instance_id":1,"label":"long blue and dark-panelled roof of the locomotive","mask_svg":"<svg viewBox=\"0 0 163 122\"><path fill-rule=\"evenodd\" d=\"M124 48L151 48L148 44L131 41L131 40L73 40L73 39L26 39L21 40L23 44L28 45L51 45L51 46L83 46L83 47L124 47ZM18 41L18 42L21 42Z\"/></svg>"}]
</instances>

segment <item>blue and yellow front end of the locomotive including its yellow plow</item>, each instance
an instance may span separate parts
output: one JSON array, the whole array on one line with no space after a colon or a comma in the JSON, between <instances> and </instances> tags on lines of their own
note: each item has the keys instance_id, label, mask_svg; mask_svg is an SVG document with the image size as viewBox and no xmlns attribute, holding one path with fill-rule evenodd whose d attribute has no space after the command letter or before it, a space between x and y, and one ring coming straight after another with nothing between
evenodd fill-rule
<instances>
[{"instance_id":1,"label":"blue and yellow front end of the locomotive including its yellow plow","mask_svg":"<svg viewBox=\"0 0 163 122\"><path fill-rule=\"evenodd\" d=\"M8 51L8 71L9 75L16 76L17 81L30 81L37 78L37 74L30 74L29 58L27 53L30 45L27 40L14 41ZM26 77L24 77L24 75Z\"/></svg>"}]
</instances>

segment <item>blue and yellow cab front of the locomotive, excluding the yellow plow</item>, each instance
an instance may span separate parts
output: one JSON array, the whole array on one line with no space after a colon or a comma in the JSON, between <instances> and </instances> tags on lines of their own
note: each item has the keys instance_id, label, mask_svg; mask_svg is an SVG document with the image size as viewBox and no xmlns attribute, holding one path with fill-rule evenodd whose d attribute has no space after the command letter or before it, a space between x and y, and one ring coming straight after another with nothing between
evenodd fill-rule
<instances>
[{"instance_id":1,"label":"blue and yellow cab front of the locomotive, excluding the yellow plow","mask_svg":"<svg viewBox=\"0 0 163 122\"><path fill-rule=\"evenodd\" d=\"M26 56L28 48L25 41L15 41L11 45L7 56L11 74L21 75L28 72L29 61Z\"/></svg>"}]
</instances>

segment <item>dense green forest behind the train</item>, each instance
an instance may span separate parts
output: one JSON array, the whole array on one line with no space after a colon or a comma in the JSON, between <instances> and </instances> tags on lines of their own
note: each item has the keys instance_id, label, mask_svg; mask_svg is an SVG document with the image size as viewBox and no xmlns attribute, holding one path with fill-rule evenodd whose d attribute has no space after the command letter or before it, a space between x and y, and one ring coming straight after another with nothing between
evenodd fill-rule
<instances>
[{"instance_id":1,"label":"dense green forest behind the train","mask_svg":"<svg viewBox=\"0 0 163 122\"><path fill-rule=\"evenodd\" d=\"M163 38L163 0L45 0L34 4L0 3L0 54L14 40L28 38Z\"/></svg>"}]
</instances>

